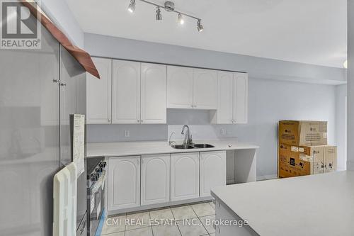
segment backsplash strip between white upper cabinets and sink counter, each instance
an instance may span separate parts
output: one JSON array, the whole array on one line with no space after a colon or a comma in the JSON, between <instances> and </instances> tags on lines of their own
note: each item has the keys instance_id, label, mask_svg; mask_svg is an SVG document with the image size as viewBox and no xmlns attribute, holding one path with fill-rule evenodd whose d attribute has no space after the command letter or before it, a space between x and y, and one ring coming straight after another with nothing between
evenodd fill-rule
<instances>
[{"instance_id":1,"label":"backsplash strip between white upper cabinets and sink counter","mask_svg":"<svg viewBox=\"0 0 354 236\"><path fill-rule=\"evenodd\" d=\"M209 111L168 109L167 125L87 125L87 142L182 140L185 124L195 140L236 137L236 125L210 125Z\"/></svg>"}]
</instances>

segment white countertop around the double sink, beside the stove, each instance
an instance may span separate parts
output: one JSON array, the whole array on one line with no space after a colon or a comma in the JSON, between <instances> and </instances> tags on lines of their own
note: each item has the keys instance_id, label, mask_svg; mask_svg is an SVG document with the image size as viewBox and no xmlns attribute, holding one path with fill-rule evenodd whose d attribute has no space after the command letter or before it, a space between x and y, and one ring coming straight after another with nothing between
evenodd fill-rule
<instances>
[{"instance_id":1,"label":"white countertop around the double sink, beside the stove","mask_svg":"<svg viewBox=\"0 0 354 236\"><path fill-rule=\"evenodd\" d=\"M164 154L181 152L210 152L219 150L256 149L257 145L238 142L237 140L195 140L195 143L208 143L212 148L193 148L177 150L166 141L144 142L95 142L86 144L86 157L121 157L143 154Z\"/></svg>"}]
</instances>

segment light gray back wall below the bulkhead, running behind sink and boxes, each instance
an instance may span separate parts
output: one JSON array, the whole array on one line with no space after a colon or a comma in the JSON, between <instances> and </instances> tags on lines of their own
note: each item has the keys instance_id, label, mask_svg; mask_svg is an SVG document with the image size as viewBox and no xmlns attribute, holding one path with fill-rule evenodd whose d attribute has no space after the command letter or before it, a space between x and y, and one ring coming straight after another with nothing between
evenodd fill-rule
<instances>
[{"instance_id":1,"label":"light gray back wall below the bulkhead, running behind sink and boxes","mask_svg":"<svg viewBox=\"0 0 354 236\"><path fill-rule=\"evenodd\" d=\"M329 143L336 144L336 86L249 79L249 123L210 125L207 111L168 110L167 125L88 125L88 142L181 139L181 128L190 125L194 139L237 137L261 148L257 175L277 173L277 122L282 119L328 120ZM222 136L221 129L227 130ZM124 137L124 130L131 130Z\"/></svg>"}]
</instances>

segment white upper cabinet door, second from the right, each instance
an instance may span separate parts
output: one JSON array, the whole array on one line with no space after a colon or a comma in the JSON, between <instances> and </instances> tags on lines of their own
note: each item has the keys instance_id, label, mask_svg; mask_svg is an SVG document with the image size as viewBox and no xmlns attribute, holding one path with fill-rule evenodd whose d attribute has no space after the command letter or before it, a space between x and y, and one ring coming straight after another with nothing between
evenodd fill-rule
<instances>
[{"instance_id":1,"label":"white upper cabinet door, second from the right","mask_svg":"<svg viewBox=\"0 0 354 236\"><path fill-rule=\"evenodd\" d=\"M217 72L217 123L233 123L234 74Z\"/></svg>"}]
</instances>

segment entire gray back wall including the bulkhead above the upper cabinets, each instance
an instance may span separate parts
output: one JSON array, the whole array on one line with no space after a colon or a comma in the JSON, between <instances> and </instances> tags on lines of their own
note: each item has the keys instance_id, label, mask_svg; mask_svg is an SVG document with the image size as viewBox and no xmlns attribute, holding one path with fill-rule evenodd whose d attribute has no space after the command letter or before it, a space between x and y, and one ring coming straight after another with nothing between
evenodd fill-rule
<instances>
[{"instance_id":1,"label":"entire gray back wall including the bulkhead above the upper cabinets","mask_svg":"<svg viewBox=\"0 0 354 236\"><path fill-rule=\"evenodd\" d=\"M344 96L343 89L328 84L345 82L344 69L92 34L85 34L85 49L95 56L230 69L249 72L250 77L246 125L210 125L207 111L169 109L167 125L89 125L88 142L166 140L171 132L181 139L182 125L189 124L195 139L237 137L259 145L257 175L268 176L277 173L278 120L328 120L329 143L340 145L343 154L343 143L336 142L336 98ZM222 136L221 129L227 134ZM130 137L124 137L125 130Z\"/></svg>"}]
</instances>

